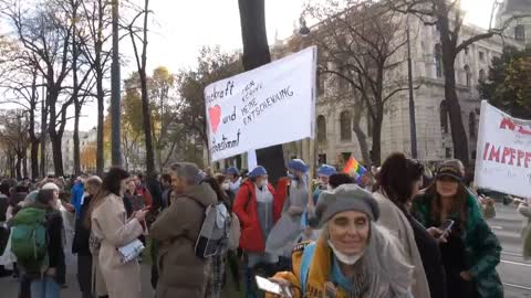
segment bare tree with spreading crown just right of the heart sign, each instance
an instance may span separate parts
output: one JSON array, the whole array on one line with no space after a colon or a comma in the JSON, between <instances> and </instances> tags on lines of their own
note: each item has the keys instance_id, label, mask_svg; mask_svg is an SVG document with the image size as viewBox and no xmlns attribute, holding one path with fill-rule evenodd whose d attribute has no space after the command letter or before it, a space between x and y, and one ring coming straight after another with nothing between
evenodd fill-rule
<instances>
[{"instance_id":1,"label":"bare tree with spreading crown just right of the heart sign","mask_svg":"<svg viewBox=\"0 0 531 298\"><path fill-rule=\"evenodd\" d=\"M353 130L358 139L364 161L379 164L384 114L388 102L406 91L404 77L397 70L404 63L400 39L404 19L377 1L345 0L337 4L326 0L309 4L304 15L320 21L308 39L320 49L321 74L331 75L336 83L336 95L330 100L342 100L354 110ZM367 115L372 123L372 156L361 119Z\"/></svg>"}]
</instances>

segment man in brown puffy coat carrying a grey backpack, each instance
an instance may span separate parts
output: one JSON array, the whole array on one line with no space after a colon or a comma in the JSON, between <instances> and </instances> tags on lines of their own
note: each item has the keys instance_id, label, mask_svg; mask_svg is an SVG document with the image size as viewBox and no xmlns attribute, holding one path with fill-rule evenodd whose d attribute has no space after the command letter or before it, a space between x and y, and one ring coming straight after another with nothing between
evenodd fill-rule
<instances>
[{"instance_id":1,"label":"man in brown puffy coat carrying a grey backpack","mask_svg":"<svg viewBox=\"0 0 531 298\"><path fill-rule=\"evenodd\" d=\"M196 256L195 246L205 210L218 196L195 163L177 162L170 167L175 199L153 223L149 235L159 243L156 298L204 297L208 260Z\"/></svg>"}]
</instances>

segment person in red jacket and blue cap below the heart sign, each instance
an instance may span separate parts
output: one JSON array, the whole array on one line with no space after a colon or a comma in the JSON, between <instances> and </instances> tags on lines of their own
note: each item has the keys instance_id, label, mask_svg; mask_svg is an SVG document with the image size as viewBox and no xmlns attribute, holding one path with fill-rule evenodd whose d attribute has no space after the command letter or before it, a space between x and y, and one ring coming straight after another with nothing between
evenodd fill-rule
<instances>
[{"instance_id":1,"label":"person in red jacket and blue cap below the heart sign","mask_svg":"<svg viewBox=\"0 0 531 298\"><path fill-rule=\"evenodd\" d=\"M258 166L249 173L249 179L241 183L232 206L241 225L240 248L247 256L246 297L248 298L258 297L253 286L254 272L278 262L278 256L266 253L266 240L280 216L273 213L277 204L279 202L273 187L268 181L268 171L262 166Z\"/></svg>"}]
</instances>

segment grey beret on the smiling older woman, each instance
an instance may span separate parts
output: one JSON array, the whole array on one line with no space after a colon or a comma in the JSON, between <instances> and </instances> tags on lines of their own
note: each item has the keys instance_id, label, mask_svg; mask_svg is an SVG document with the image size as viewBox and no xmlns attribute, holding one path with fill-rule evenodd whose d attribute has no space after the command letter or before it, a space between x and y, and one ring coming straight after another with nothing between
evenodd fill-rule
<instances>
[{"instance_id":1,"label":"grey beret on the smiling older woman","mask_svg":"<svg viewBox=\"0 0 531 298\"><path fill-rule=\"evenodd\" d=\"M323 191L315 206L314 227L322 227L335 214L344 211L360 211L377 221L379 207L373 195L356 184L343 184L333 191Z\"/></svg>"}]
</instances>

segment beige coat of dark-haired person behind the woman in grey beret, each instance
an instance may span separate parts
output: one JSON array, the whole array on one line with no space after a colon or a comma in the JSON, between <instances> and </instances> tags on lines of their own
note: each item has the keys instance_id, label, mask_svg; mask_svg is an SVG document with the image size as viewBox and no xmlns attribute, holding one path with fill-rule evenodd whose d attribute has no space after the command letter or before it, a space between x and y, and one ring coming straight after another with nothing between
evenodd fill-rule
<instances>
[{"instance_id":1,"label":"beige coat of dark-haired person behind the woman in grey beret","mask_svg":"<svg viewBox=\"0 0 531 298\"><path fill-rule=\"evenodd\" d=\"M413 274L415 284L412 287L413 297L429 298L428 279L424 272L423 259L420 258L409 221L400 209L381 192L373 193L373 196L379 206L379 219L376 223L389 230L398 238L404 246L407 262L415 266Z\"/></svg>"}]
</instances>

